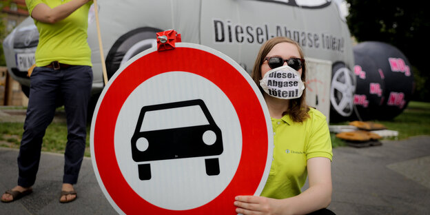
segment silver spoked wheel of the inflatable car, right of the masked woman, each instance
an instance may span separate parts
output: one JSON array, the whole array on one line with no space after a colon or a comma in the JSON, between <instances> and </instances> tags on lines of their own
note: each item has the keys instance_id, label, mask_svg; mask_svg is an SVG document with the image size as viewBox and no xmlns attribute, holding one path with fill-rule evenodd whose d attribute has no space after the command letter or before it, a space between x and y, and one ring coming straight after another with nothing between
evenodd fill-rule
<instances>
[{"instance_id":1,"label":"silver spoked wheel of the inflatable car, right of the masked woman","mask_svg":"<svg viewBox=\"0 0 430 215\"><path fill-rule=\"evenodd\" d=\"M345 63L333 65L330 86L330 121L345 121L354 112L356 79Z\"/></svg>"}]
</instances>

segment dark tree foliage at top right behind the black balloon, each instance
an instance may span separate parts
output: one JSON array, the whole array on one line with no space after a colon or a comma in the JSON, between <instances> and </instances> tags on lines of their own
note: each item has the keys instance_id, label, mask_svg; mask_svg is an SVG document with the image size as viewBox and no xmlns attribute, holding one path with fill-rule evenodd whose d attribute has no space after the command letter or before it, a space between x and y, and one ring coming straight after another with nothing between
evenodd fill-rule
<instances>
[{"instance_id":1,"label":"dark tree foliage at top right behind the black balloon","mask_svg":"<svg viewBox=\"0 0 430 215\"><path fill-rule=\"evenodd\" d=\"M413 100L430 101L430 19L427 1L346 0L349 31L361 41L394 45L411 63L416 89Z\"/></svg>"}]
</instances>

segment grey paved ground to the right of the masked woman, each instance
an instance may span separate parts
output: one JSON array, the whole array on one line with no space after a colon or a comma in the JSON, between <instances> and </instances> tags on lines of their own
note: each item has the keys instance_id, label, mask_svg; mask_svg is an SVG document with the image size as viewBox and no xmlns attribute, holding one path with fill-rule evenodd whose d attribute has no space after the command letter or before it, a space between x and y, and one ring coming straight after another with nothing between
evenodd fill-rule
<instances>
[{"instance_id":1,"label":"grey paved ground to the right of the masked woman","mask_svg":"<svg viewBox=\"0 0 430 215\"><path fill-rule=\"evenodd\" d=\"M334 149L336 214L430 214L430 136Z\"/></svg>"}]
</instances>

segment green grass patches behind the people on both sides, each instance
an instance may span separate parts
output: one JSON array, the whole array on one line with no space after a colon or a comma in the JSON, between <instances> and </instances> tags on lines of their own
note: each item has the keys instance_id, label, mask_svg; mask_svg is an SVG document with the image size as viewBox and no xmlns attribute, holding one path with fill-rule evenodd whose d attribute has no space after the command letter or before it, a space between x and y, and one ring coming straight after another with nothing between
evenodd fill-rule
<instances>
[{"instance_id":1,"label":"green grass patches behind the people on both sides","mask_svg":"<svg viewBox=\"0 0 430 215\"><path fill-rule=\"evenodd\" d=\"M4 109L4 107L1 107ZM19 108L19 107L17 107ZM391 121L374 121L385 125L389 130L399 132L398 139L407 139L410 136L430 135L430 103L410 101L402 114ZM336 123L347 125L349 122ZM19 148L23 133L23 123L0 123L0 146ZM87 126L87 141L85 156L90 156L90 125ZM67 125L65 123L51 123L43 137L42 150L44 152L63 153L67 140ZM331 134L333 147L346 145L344 141Z\"/></svg>"}]
</instances>

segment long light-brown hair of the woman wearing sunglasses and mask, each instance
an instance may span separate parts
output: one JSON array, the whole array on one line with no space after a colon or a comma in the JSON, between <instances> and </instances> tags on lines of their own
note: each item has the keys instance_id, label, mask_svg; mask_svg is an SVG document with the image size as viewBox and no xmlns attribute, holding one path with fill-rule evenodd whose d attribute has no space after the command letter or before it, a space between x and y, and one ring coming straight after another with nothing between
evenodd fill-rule
<instances>
[{"instance_id":1,"label":"long light-brown hair of the woman wearing sunglasses and mask","mask_svg":"<svg viewBox=\"0 0 430 215\"><path fill-rule=\"evenodd\" d=\"M267 54L269 54L270 50L274 48L274 46L278 43L292 43L297 46L298 52L300 54L300 58L304 59L303 50L300 48L300 45L296 43L296 41L289 39L288 37L274 37L272 39L269 39L266 41L263 45L261 45L260 51L258 52L256 61L254 63L254 68L252 70L252 79L254 82L258 85L258 88L260 89L261 93L265 93L263 91L263 88L260 87L260 80L261 80L261 65L264 62L265 57ZM302 77L301 77L303 83L306 81L306 62L303 64L302 67ZM283 113L289 114L291 119L295 122L303 122L305 119L309 118L309 114L307 112L309 111L309 106L306 104L306 90L303 91L302 96L297 99L290 99L288 109L286 112Z\"/></svg>"}]
</instances>

